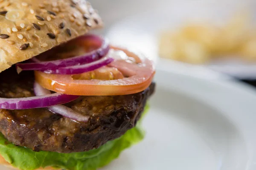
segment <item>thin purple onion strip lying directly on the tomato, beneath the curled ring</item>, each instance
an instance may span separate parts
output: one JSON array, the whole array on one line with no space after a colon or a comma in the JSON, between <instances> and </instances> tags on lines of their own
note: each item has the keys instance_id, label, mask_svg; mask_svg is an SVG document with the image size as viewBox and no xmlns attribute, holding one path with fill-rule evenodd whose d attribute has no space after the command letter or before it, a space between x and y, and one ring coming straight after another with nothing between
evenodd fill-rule
<instances>
[{"instance_id":1,"label":"thin purple onion strip lying directly on the tomato, beneath the curled ring","mask_svg":"<svg viewBox=\"0 0 256 170\"><path fill-rule=\"evenodd\" d=\"M91 62L89 64L74 65L70 67L57 68L57 69L48 69L43 72L47 74L81 74L81 73L85 73L88 71L93 71L98 68L101 68L105 65L110 64L113 61L114 61L113 58L104 57L102 59L99 59L98 61Z\"/></svg>"}]
</instances>

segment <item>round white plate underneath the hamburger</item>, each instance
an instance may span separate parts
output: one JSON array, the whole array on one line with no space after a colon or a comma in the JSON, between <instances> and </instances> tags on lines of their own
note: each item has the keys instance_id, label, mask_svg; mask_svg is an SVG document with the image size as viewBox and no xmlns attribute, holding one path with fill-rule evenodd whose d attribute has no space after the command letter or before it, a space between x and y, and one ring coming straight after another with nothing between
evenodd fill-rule
<instances>
[{"instance_id":1,"label":"round white plate underneath the hamburger","mask_svg":"<svg viewBox=\"0 0 256 170\"><path fill-rule=\"evenodd\" d=\"M159 65L145 140L102 170L255 170L256 91L204 68L186 67L192 77Z\"/></svg>"}]
</instances>

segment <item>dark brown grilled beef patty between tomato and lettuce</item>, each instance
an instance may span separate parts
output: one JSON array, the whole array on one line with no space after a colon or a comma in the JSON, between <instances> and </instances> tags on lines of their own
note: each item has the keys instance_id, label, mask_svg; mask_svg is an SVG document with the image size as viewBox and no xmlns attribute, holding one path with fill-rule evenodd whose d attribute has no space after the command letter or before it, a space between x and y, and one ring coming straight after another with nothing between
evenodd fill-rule
<instances>
[{"instance_id":1,"label":"dark brown grilled beef patty between tomato and lettuce","mask_svg":"<svg viewBox=\"0 0 256 170\"><path fill-rule=\"evenodd\" d=\"M0 97L35 96L34 74L17 74L14 67L0 74ZM47 108L26 110L0 109L0 132L16 145L35 151L82 152L97 148L122 136L136 125L154 83L145 91L124 96L81 96L65 104L89 115L87 123L52 113Z\"/></svg>"}]
</instances>

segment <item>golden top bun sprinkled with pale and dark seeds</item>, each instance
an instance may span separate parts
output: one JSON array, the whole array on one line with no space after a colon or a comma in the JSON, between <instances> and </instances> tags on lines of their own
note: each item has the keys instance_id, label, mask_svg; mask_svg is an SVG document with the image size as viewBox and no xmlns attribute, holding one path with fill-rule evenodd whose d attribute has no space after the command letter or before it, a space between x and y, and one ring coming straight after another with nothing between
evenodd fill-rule
<instances>
[{"instance_id":1,"label":"golden top bun sprinkled with pale and dark seeds","mask_svg":"<svg viewBox=\"0 0 256 170\"><path fill-rule=\"evenodd\" d=\"M86 0L0 0L0 72L101 26Z\"/></svg>"}]
</instances>

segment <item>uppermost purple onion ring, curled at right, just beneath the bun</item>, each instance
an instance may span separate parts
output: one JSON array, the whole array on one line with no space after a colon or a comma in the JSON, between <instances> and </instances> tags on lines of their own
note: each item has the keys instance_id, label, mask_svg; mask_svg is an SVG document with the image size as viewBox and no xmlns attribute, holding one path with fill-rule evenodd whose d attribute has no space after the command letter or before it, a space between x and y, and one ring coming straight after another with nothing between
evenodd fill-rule
<instances>
[{"instance_id":1,"label":"uppermost purple onion ring, curled at right, just beneath the bun","mask_svg":"<svg viewBox=\"0 0 256 170\"><path fill-rule=\"evenodd\" d=\"M17 72L20 73L23 70L38 70L38 71L45 71L49 69L56 69L62 67L69 67L73 65L84 65L98 59L101 59L110 49L109 43L107 40L102 39L102 37L96 35L84 35L79 37L81 40L92 40L92 41L99 41L101 47L93 50L87 54L70 57L67 59L58 59L54 61L47 61L47 62L40 62L37 58L32 58L32 63L18 63L16 64Z\"/></svg>"}]
</instances>

